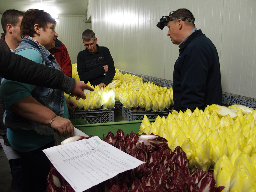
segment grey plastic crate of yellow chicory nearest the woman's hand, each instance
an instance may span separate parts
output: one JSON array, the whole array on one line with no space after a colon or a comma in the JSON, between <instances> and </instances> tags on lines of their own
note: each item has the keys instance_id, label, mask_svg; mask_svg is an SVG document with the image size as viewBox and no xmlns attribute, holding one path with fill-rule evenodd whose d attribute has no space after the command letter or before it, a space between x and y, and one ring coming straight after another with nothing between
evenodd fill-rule
<instances>
[{"instance_id":1,"label":"grey plastic crate of yellow chicory nearest the woman's hand","mask_svg":"<svg viewBox=\"0 0 256 192\"><path fill-rule=\"evenodd\" d=\"M70 119L86 119L88 124L109 123L115 121L115 109L75 110Z\"/></svg>"}]
</instances>

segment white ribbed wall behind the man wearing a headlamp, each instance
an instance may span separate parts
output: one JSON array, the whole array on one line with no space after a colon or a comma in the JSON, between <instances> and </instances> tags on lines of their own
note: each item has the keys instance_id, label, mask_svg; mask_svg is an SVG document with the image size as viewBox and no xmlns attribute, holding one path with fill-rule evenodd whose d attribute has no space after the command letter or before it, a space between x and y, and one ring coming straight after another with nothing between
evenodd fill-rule
<instances>
[{"instance_id":1,"label":"white ribbed wall behind the man wearing a headlamp","mask_svg":"<svg viewBox=\"0 0 256 192\"><path fill-rule=\"evenodd\" d=\"M90 0L92 29L100 46L110 49L119 69L172 80L178 46L167 28L156 27L163 15L187 8L197 29L217 48L222 90L256 98L255 0Z\"/></svg>"}]
</instances>

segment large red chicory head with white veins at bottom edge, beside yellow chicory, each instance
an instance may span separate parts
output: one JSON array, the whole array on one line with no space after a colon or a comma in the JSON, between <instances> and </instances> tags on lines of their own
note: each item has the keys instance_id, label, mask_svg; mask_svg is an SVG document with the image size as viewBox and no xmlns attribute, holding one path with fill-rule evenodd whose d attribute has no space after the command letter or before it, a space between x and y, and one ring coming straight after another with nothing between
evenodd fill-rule
<instances>
[{"instance_id":1,"label":"large red chicory head with white veins at bottom edge, beside yellow chicory","mask_svg":"<svg viewBox=\"0 0 256 192\"><path fill-rule=\"evenodd\" d=\"M207 172L203 175L197 185L202 192L215 192L215 181L213 179L213 173Z\"/></svg>"}]
</instances>

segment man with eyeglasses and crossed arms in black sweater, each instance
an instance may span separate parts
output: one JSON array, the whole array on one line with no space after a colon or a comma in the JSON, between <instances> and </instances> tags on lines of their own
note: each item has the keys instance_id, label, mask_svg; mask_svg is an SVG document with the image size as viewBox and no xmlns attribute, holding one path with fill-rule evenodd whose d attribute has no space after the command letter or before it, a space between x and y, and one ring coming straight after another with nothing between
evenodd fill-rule
<instances>
[{"instance_id":1,"label":"man with eyeglasses and crossed arms in black sweater","mask_svg":"<svg viewBox=\"0 0 256 192\"><path fill-rule=\"evenodd\" d=\"M82 34L83 44L86 47L77 56L77 72L84 83L99 85L105 88L115 76L113 58L106 47L97 45L95 33L86 29Z\"/></svg>"}]
</instances>

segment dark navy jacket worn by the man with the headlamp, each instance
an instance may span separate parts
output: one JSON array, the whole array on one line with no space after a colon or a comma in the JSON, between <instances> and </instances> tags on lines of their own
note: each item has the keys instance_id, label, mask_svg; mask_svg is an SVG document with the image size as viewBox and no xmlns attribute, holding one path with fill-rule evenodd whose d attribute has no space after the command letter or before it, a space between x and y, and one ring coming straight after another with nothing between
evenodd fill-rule
<instances>
[{"instance_id":1,"label":"dark navy jacket worn by the man with the headlamp","mask_svg":"<svg viewBox=\"0 0 256 192\"><path fill-rule=\"evenodd\" d=\"M206 105L222 105L219 56L211 40L197 30L179 51L173 70L174 110L204 110Z\"/></svg>"}]
</instances>

